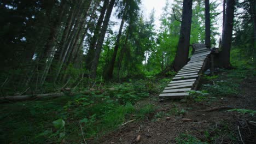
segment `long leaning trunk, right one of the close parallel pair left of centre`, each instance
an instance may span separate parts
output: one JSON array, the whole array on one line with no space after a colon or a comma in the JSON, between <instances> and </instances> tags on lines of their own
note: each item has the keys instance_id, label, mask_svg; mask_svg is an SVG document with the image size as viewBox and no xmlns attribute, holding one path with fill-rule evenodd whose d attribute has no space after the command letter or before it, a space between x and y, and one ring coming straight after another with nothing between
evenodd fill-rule
<instances>
[{"instance_id":1,"label":"long leaning trunk, right one of the close parallel pair left of centre","mask_svg":"<svg viewBox=\"0 0 256 144\"><path fill-rule=\"evenodd\" d=\"M107 9L106 16L105 16L104 21L103 21L101 34L100 34L100 37L98 39L97 46L96 46L96 49L95 49L94 59L92 60L92 63L91 63L91 69L90 69L91 70L91 77L94 78L94 79L96 78L98 60L100 58L100 53L101 53L103 41L104 41L104 38L105 38L105 34L107 32L109 19L110 19L114 4L115 4L115 0L111 0L110 3L109 3L109 7Z\"/></svg>"}]
</instances>

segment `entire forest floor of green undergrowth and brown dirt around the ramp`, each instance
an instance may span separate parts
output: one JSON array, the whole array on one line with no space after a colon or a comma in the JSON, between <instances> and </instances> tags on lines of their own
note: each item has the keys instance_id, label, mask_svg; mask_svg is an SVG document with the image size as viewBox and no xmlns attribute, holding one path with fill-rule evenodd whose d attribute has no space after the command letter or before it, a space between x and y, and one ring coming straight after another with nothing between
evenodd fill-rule
<instances>
[{"instance_id":1,"label":"entire forest floor of green undergrowth and brown dirt around the ramp","mask_svg":"<svg viewBox=\"0 0 256 144\"><path fill-rule=\"evenodd\" d=\"M170 79L153 79L94 97L1 104L0 143L254 143L255 78L255 68L220 70L182 100L159 99Z\"/></svg>"}]
</instances>

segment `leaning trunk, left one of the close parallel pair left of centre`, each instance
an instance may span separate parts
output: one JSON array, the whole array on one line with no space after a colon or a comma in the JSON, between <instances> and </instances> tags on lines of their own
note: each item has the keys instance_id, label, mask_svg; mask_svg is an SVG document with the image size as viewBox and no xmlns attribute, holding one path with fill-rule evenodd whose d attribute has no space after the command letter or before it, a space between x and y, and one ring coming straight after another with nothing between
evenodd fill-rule
<instances>
[{"instance_id":1,"label":"leaning trunk, left one of the close parallel pair left of centre","mask_svg":"<svg viewBox=\"0 0 256 144\"><path fill-rule=\"evenodd\" d=\"M100 31L101 31L101 25L102 25L108 4L109 4L109 0L105 0L103 7L101 8L100 17L98 17L96 28L94 30L94 36L91 38L91 41L90 41L90 47L88 50L88 54L86 56L86 68L87 69L91 68L91 62L92 62L92 59L94 58L95 47L96 47L97 40L98 40Z\"/></svg>"}]
</instances>

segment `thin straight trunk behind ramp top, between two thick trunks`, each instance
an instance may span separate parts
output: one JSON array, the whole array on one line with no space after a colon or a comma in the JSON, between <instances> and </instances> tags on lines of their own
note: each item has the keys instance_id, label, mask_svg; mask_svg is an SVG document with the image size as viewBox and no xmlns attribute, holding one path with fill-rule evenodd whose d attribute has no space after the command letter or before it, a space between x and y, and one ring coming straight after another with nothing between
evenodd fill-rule
<instances>
[{"instance_id":1,"label":"thin straight trunk behind ramp top, between two thick trunks","mask_svg":"<svg viewBox=\"0 0 256 144\"><path fill-rule=\"evenodd\" d=\"M205 0L205 45L211 48L211 19L210 19L210 3Z\"/></svg>"}]
</instances>

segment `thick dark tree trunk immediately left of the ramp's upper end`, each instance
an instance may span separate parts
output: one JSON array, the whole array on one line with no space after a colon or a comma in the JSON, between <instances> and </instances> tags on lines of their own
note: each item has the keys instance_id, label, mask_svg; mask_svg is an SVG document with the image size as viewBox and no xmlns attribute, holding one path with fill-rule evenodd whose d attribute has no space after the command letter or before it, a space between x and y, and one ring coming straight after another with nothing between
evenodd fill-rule
<instances>
[{"instance_id":1,"label":"thick dark tree trunk immediately left of the ramp's upper end","mask_svg":"<svg viewBox=\"0 0 256 144\"><path fill-rule=\"evenodd\" d=\"M192 19L193 0L184 0L182 9L181 31L179 32L178 50L173 62L174 70L180 70L187 62Z\"/></svg>"}]
</instances>

